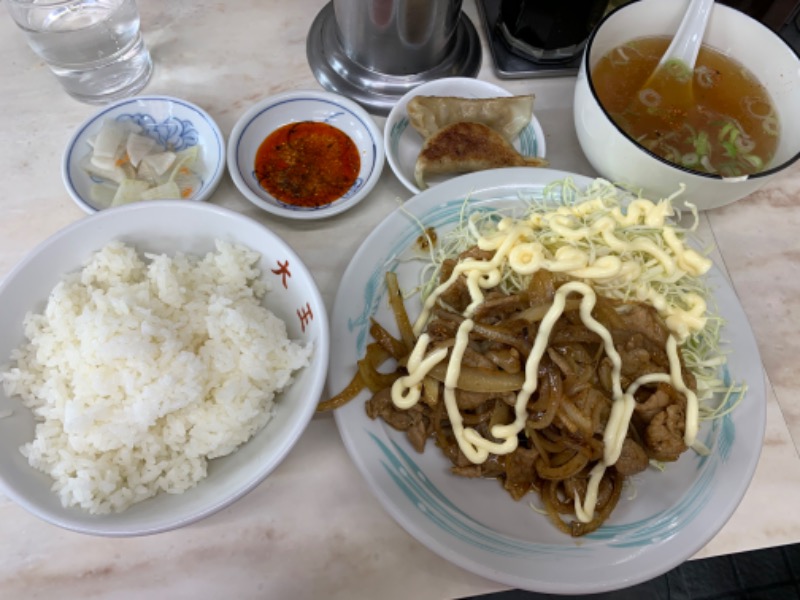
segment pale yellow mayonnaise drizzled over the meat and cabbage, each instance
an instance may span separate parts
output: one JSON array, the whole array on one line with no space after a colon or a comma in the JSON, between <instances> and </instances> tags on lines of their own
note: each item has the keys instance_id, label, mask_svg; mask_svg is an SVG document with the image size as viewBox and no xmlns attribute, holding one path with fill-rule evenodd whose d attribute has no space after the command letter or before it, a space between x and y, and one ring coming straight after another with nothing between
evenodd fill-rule
<instances>
[{"instance_id":1,"label":"pale yellow mayonnaise drizzled over the meat and cabbage","mask_svg":"<svg viewBox=\"0 0 800 600\"><path fill-rule=\"evenodd\" d=\"M601 216L589 224L584 224L588 216L601 211ZM562 206L548 213L534 213L527 220L502 219L497 225L497 230L490 235L481 235L470 221L469 227L477 239L477 246L483 250L494 250L494 255L488 261L471 258L461 260L447 281L436 287L425 299L422 311L414 323L414 333L419 337L409 356L408 375L395 381L392 386L392 401L401 409L414 406L420 398L422 380L436 364L446 358L446 348L425 354L430 340L422 330L442 293L458 277L464 275L471 302L463 312L465 319L459 326L447 366L444 382L445 408L459 448L472 463L483 463L490 453L503 455L513 452L518 444L517 435L524 429L528 417L528 401L537 389L539 363L547 350L550 333L564 312L567 296L572 293L580 294L581 320L588 329L601 338L606 356L612 363L613 403L603 433L603 459L590 473L583 503L577 495L575 497L577 518L583 522L591 521L603 474L608 467L616 463L622 451L635 407L634 394L639 387L663 381L683 393L687 399L685 444L692 446L697 435L699 421L697 397L683 380L677 348L679 341L686 339L705 325L705 300L697 294L686 294L683 297L686 308L678 307L670 303L649 281L637 281L644 268L652 269L653 264L659 267L661 276L670 279L678 279L685 274L700 275L710 268L711 263L708 259L687 248L678 238L674 228L665 225L666 217L671 214L672 209L668 201L654 204L649 200L635 200L628 206L627 214L622 214L619 207L608 209L601 199L595 199L574 206ZM663 244L658 244L651 237L644 235L626 240L616 234L618 226L636 225L660 229ZM544 244L537 241L537 230L543 228L554 232L562 240L572 242L573 245L563 245L555 252L549 252ZM591 243L577 245L577 242L587 240ZM597 256L594 246L598 240L614 254L604 253ZM641 258L642 256L649 258ZM488 440L474 428L464 427L455 390L461 372L463 353L469 341L469 332L474 326L471 317L483 302L483 290L496 287L502 281L501 269L504 264L521 275L547 269L584 281L608 282L621 278L627 282L636 282L638 284L636 298L654 306L672 332L666 344L670 372L643 375L627 390L623 390L620 375L622 359L614 348L609 331L591 315L597 296L592 287L584 281L570 281L556 290L553 303L539 326L533 348L525 364L525 380L514 402L514 421L492 428L492 437L499 441Z\"/></svg>"}]
</instances>

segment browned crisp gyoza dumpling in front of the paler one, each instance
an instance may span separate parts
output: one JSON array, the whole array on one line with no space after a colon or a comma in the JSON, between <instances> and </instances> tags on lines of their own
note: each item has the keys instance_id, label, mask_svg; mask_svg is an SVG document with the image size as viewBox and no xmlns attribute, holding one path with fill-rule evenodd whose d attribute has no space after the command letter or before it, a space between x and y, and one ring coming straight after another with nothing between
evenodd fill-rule
<instances>
[{"instance_id":1,"label":"browned crisp gyoza dumpling in front of the paler one","mask_svg":"<svg viewBox=\"0 0 800 600\"><path fill-rule=\"evenodd\" d=\"M546 164L543 158L522 156L503 136L482 123L461 122L447 125L425 141L414 179L420 189L425 189L425 180L431 175Z\"/></svg>"}]
</instances>

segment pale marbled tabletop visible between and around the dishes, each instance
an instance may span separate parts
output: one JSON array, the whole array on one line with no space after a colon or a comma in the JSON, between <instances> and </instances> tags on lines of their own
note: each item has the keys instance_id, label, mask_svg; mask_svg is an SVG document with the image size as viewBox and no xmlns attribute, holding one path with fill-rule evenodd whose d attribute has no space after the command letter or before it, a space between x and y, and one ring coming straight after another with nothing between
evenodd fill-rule
<instances>
[{"instance_id":1,"label":"pale marbled tabletop visible between and around the dishes","mask_svg":"<svg viewBox=\"0 0 800 600\"><path fill-rule=\"evenodd\" d=\"M0 5L4 4L0 1ZM226 135L253 102L319 89L306 35L323 0L139 0L155 60L145 92L204 107ZM475 4L466 14L481 33ZM5 13L6 8L0 8ZM479 77L536 94L554 168L593 175L572 126L574 79L499 81L484 45ZM84 218L61 182L61 153L95 109L61 91L7 14L0 16L0 277L36 244ZM379 125L383 118L375 117ZM409 193L385 169L355 209L317 222L269 217L226 175L212 202L286 239L328 308L350 256ZM752 196L705 213L702 234L729 275L765 368L767 430L744 500L697 557L800 541L800 164ZM334 244L335 240L335 244ZM105 539L39 521L0 495L0 597L455 598L500 590L419 544L373 497L329 415L315 418L262 485L184 529Z\"/></svg>"}]
</instances>

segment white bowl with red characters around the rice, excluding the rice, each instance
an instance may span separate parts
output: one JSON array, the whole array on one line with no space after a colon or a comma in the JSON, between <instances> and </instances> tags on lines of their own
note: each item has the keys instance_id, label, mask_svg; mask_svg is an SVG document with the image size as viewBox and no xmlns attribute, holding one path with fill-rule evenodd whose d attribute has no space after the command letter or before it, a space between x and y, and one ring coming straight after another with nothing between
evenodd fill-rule
<instances>
[{"instance_id":1,"label":"white bowl with red characters around the rice, excluding the rice","mask_svg":"<svg viewBox=\"0 0 800 600\"><path fill-rule=\"evenodd\" d=\"M308 366L278 394L266 426L231 454L209 461L208 474L181 494L160 493L123 512L92 515L64 508L53 480L28 464L20 447L34 438L34 417L18 396L0 385L0 492L32 514L69 530L103 536L152 534L188 525L231 504L256 487L286 457L308 425L323 391L329 332L325 304L297 254L256 221L207 202L153 200L89 215L42 242L0 285L0 368L25 341L23 319L41 313L65 274L80 270L112 240L140 253L202 256L215 240L236 242L261 255L258 268L269 287L263 304L286 324L293 340L313 344Z\"/></svg>"}]
</instances>

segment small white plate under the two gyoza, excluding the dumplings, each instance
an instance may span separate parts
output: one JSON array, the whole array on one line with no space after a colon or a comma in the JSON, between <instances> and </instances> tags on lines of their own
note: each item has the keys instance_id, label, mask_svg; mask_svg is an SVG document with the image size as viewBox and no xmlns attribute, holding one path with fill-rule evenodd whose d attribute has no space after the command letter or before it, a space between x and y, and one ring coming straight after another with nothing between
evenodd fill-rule
<instances>
[{"instance_id":1,"label":"small white plate under the two gyoza, excluding the dumplings","mask_svg":"<svg viewBox=\"0 0 800 600\"><path fill-rule=\"evenodd\" d=\"M386 125L383 129L386 160L400 182L415 194L418 194L421 190L414 181L414 166L417 164L417 156L422 150L424 140L410 126L406 105L411 98L419 95L497 98L511 96L512 94L508 90L488 81L469 77L448 77L424 83L400 98L386 118ZM535 101L533 106L535 111ZM531 122L517 136L513 144L523 156L544 158L544 132L535 115L531 116ZM428 184L433 187L437 183L451 178L443 175L432 177Z\"/></svg>"}]
</instances>

